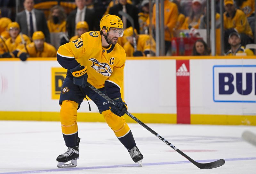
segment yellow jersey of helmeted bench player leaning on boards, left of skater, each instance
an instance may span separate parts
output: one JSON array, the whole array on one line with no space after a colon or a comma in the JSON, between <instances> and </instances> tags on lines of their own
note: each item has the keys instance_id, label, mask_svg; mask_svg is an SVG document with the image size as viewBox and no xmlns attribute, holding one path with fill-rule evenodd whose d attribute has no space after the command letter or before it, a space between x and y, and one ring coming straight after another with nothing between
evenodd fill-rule
<instances>
[{"instance_id":1,"label":"yellow jersey of helmeted bench player leaning on boards, left of skater","mask_svg":"<svg viewBox=\"0 0 256 174\"><path fill-rule=\"evenodd\" d=\"M44 42L43 51L37 51L34 42L28 44L26 48L20 50L20 52L18 53L18 57L20 56L21 53L27 53L29 54L29 57L56 57L55 47L46 42Z\"/></svg>"}]
</instances>

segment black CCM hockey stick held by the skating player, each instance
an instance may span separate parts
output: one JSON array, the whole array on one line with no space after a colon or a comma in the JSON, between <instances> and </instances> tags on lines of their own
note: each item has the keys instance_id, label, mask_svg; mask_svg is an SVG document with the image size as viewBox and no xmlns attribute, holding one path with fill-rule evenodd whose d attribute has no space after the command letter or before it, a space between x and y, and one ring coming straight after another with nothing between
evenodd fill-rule
<instances>
[{"instance_id":1,"label":"black CCM hockey stick held by the skating player","mask_svg":"<svg viewBox=\"0 0 256 174\"><path fill-rule=\"evenodd\" d=\"M107 95L105 95L104 93L100 92L97 88L95 88L94 86L92 86L90 83L87 82L87 86L89 88L91 88L93 91L95 91L97 94L99 94L101 97L105 98L106 100L108 100L109 103L111 103L112 105L115 105L115 102L109 98ZM144 128L146 128L149 132L151 132L152 134L156 135L160 140L162 140L164 143L166 143L168 146L170 146L172 149L176 150L176 152L178 152L180 155L184 156L185 158L188 159L188 161L190 161L191 163L193 163L194 165L196 165L196 167L200 168L200 169L212 169L212 168L216 168L216 167L220 167L223 164L225 164L225 160L224 159L220 159L211 163L198 163L195 160L191 159L189 156L187 156L186 154L184 154L180 149L176 148L172 143L168 142L167 140L165 140L162 136L160 136L159 134L157 134L153 129L151 129L150 127L148 127L147 125L145 125L143 122L141 122L139 119L137 119L134 115L132 115L130 112L126 111L125 114L127 114L129 117L131 117L133 120L135 120L137 123L139 123L141 126L143 126Z\"/></svg>"}]
</instances>

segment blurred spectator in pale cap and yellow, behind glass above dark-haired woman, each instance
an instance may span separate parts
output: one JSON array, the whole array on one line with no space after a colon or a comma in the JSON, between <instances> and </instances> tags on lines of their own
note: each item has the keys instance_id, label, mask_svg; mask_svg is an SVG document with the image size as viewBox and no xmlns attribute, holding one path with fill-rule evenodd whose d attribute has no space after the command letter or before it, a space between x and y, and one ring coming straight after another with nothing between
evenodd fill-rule
<instances>
[{"instance_id":1,"label":"blurred spectator in pale cap and yellow, behind glass above dark-haired woman","mask_svg":"<svg viewBox=\"0 0 256 174\"><path fill-rule=\"evenodd\" d=\"M186 17L181 29L188 30L190 28L198 29L200 18L203 15L203 5L202 0L192 1L192 10L188 17Z\"/></svg>"}]
</instances>

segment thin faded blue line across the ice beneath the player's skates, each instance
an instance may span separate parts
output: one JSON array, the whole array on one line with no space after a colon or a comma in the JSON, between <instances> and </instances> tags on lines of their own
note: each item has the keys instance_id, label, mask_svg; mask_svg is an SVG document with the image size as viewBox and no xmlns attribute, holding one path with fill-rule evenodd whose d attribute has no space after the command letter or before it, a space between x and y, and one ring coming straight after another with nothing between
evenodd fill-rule
<instances>
[{"instance_id":1,"label":"thin faded blue line across the ice beneath the player's skates","mask_svg":"<svg viewBox=\"0 0 256 174\"><path fill-rule=\"evenodd\" d=\"M199 163L209 163L217 161L218 159L211 160L198 160ZM249 158L227 158L225 161L242 161L242 160L256 160L256 157ZM174 161L174 162L162 162L162 163L143 163L144 166L152 165L168 165L168 164L184 164L190 163L189 161ZM27 173L43 173L43 172L58 172L58 171L72 171L72 170L90 170L90 169L109 169L109 168L119 168L119 167L132 167L138 166L138 164L121 164L121 165L109 165L109 166L94 166L94 167L75 167L75 168L63 168L63 169L46 169L46 170L30 170L30 171L15 171L15 172L5 172L0 174L27 174Z\"/></svg>"}]
</instances>

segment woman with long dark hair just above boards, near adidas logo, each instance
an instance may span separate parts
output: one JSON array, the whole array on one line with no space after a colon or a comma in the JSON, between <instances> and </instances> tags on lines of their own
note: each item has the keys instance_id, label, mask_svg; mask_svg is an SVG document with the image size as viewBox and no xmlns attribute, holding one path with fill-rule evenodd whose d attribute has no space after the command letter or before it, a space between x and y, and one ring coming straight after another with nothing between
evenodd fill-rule
<instances>
[{"instance_id":1,"label":"woman with long dark hair just above boards, near adidas logo","mask_svg":"<svg viewBox=\"0 0 256 174\"><path fill-rule=\"evenodd\" d=\"M211 50L207 46L205 41L202 39L196 40L193 46L192 55L210 55L210 54L211 54Z\"/></svg>"}]
</instances>

